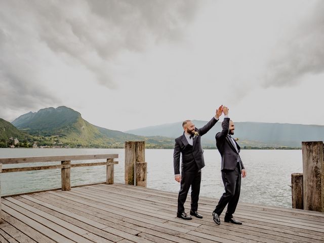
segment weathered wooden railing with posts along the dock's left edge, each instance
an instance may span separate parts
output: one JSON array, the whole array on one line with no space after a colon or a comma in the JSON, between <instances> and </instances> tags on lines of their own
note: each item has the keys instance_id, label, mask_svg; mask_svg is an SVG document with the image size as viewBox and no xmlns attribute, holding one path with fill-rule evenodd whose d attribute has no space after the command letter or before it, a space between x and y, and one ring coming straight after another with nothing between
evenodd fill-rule
<instances>
[{"instance_id":1,"label":"weathered wooden railing with posts along the dock's left edge","mask_svg":"<svg viewBox=\"0 0 324 243\"><path fill-rule=\"evenodd\" d=\"M71 190L70 170L73 167L107 166L106 184L113 184L114 165L118 164L118 161L114 161L115 158L118 158L118 154L0 158L0 174L11 173L11 172L23 172L23 171L61 169L61 182L62 182L61 189L62 189L62 191L68 191L68 190ZM72 160L94 160L94 159L106 159L106 161L98 162L98 163L71 164ZM2 165L54 162L54 161L61 161L61 165L2 169ZM60 188L58 188L58 189L60 189ZM1 192L1 180L0 180L0 192ZM0 223L1 223L1 195L0 195Z\"/></svg>"}]
</instances>

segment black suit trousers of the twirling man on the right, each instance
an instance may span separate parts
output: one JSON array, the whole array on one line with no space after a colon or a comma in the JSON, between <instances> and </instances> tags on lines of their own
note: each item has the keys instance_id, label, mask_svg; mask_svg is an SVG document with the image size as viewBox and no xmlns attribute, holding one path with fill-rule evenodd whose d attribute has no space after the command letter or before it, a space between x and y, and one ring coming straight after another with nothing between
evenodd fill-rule
<instances>
[{"instance_id":1,"label":"black suit trousers of the twirling man on the right","mask_svg":"<svg viewBox=\"0 0 324 243\"><path fill-rule=\"evenodd\" d=\"M227 211L225 214L226 218L232 218L234 214L241 188L241 173L239 165L234 170L223 170L222 171L222 180L225 187L225 192L222 197L219 199L218 205L216 206L215 213L221 215L223 210L227 206Z\"/></svg>"}]
</instances>

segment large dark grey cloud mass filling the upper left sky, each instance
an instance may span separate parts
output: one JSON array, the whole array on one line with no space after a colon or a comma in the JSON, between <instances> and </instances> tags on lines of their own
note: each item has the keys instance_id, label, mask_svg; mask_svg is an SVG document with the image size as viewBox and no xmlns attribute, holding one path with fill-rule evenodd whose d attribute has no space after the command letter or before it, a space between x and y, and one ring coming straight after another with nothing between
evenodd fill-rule
<instances>
[{"instance_id":1,"label":"large dark grey cloud mass filling the upper left sky","mask_svg":"<svg viewBox=\"0 0 324 243\"><path fill-rule=\"evenodd\" d=\"M114 57L178 41L196 9L194 0L1 1L0 102L8 109L60 103L37 75L49 65L42 63L46 57L116 88L110 75Z\"/></svg>"}]
</instances>

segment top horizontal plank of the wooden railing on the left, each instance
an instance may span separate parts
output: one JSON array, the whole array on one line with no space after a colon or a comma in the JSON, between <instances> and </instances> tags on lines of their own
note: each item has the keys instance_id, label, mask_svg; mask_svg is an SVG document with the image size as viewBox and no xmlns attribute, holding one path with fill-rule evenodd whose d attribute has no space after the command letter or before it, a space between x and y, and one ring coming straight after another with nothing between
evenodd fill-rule
<instances>
[{"instance_id":1,"label":"top horizontal plank of the wooden railing on the left","mask_svg":"<svg viewBox=\"0 0 324 243\"><path fill-rule=\"evenodd\" d=\"M39 157L20 157L20 158L0 158L0 164L21 164L21 163L38 163L53 162L64 160L93 160L118 158L118 154L87 154L87 155L66 155L66 156L39 156Z\"/></svg>"}]
</instances>

